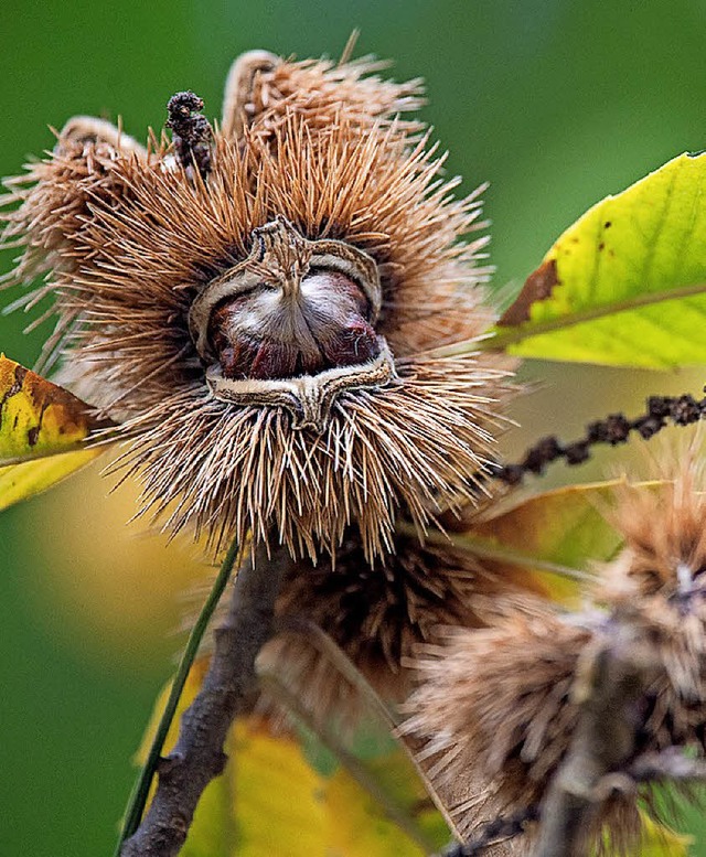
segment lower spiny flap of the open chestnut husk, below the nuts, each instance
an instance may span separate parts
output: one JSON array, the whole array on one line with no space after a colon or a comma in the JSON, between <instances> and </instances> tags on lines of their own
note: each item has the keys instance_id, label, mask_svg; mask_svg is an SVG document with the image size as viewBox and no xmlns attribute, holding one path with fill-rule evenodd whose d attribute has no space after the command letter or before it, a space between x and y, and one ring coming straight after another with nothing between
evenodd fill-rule
<instances>
[{"instance_id":1,"label":"lower spiny flap of the open chestnut husk, below the nuts","mask_svg":"<svg viewBox=\"0 0 706 857\"><path fill-rule=\"evenodd\" d=\"M417 361L392 388L343 394L323 433L192 385L124 424L137 438L117 467L140 475L143 507L173 532L193 524L218 545L248 529L266 539L275 522L284 543L315 556L317 540L334 549L355 519L373 556L391 549L399 504L426 524L473 496L466 480L485 460L500 378L453 363Z\"/></svg>"}]
</instances>

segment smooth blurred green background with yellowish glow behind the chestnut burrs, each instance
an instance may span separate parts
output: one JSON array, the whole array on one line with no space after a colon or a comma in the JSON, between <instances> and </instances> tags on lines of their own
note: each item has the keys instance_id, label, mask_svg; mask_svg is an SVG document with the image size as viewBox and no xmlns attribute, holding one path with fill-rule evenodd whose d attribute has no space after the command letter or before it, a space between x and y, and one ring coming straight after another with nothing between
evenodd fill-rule
<instances>
[{"instance_id":1,"label":"smooth blurred green background with yellowish glow behind the chestnut burrs","mask_svg":"<svg viewBox=\"0 0 706 857\"><path fill-rule=\"evenodd\" d=\"M356 26L357 55L426 78L424 116L451 151L449 171L467 190L491 181L499 287L518 286L591 203L705 148L704 0L22 0L3 6L0 23L0 173L50 148L47 125L74 114L122 116L143 139L189 87L217 115L236 54L335 56ZM7 270L11 254L0 261ZM31 365L42 331L22 336L22 326L18 314L0 318L0 350ZM510 452L704 381L538 364L525 376L547 382L517 406L524 429ZM580 475L616 461L606 452ZM104 502L107 488L81 476L0 517L3 857L111 853L129 757L179 649L171 632L199 577L190 550L150 540L140 560L142 543L122 529L129 497Z\"/></svg>"}]
</instances>

